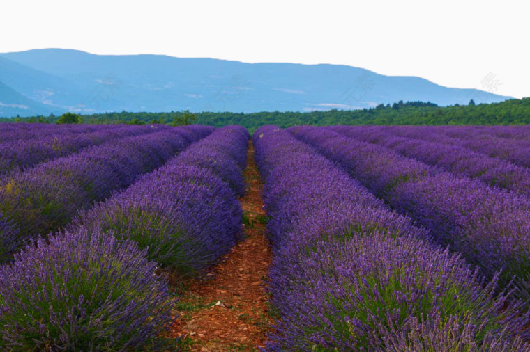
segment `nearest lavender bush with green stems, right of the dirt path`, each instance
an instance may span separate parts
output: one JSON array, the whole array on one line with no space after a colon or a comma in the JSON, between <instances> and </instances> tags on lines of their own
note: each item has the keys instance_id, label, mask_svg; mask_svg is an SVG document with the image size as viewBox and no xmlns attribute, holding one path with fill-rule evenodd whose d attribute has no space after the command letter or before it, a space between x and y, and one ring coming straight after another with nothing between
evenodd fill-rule
<instances>
[{"instance_id":1,"label":"nearest lavender bush with green stems, right of the dirt path","mask_svg":"<svg viewBox=\"0 0 530 352\"><path fill-rule=\"evenodd\" d=\"M274 349L299 351L528 351L527 321L504 309L497 278L448 251L370 231L327 234L289 271L289 310ZM279 255L284 253L280 252ZM282 298L281 301L285 301ZM305 307L310 305L311 307ZM513 339L513 341L510 341Z\"/></svg>"}]
</instances>

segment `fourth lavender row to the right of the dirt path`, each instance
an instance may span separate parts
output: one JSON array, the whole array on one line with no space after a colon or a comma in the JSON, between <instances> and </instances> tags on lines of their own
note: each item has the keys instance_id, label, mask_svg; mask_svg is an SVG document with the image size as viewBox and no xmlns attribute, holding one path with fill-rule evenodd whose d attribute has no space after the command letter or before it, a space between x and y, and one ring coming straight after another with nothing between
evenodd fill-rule
<instances>
[{"instance_id":1,"label":"fourth lavender row to the right of the dirt path","mask_svg":"<svg viewBox=\"0 0 530 352\"><path fill-rule=\"evenodd\" d=\"M494 134L475 135L472 130L469 131L469 127L448 129L437 126L386 126L381 128L398 136L464 147L490 157L499 157L520 166L530 167L530 139L528 138L508 139L494 136ZM527 127L519 128L521 131L527 129Z\"/></svg>"}]
</instances>

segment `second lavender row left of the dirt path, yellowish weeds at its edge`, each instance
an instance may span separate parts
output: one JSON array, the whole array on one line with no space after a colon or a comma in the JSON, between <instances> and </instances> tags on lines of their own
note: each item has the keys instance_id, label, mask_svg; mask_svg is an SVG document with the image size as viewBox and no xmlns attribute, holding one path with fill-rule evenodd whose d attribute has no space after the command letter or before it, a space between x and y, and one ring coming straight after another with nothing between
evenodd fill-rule
<instances>
[{"instance_id":1,"label":"second lavender row left of the dirt path, yellowish weeds at its edge","mask_svg":"<svg viewBox=\"0 0 530 352\"><path fill-rule=\"evenodd\" d=\"M0 180L0 262L27 239L65 225L93 205L207 136L211 127L174 127L109 141Z\"/></svg>"}]
</instances>

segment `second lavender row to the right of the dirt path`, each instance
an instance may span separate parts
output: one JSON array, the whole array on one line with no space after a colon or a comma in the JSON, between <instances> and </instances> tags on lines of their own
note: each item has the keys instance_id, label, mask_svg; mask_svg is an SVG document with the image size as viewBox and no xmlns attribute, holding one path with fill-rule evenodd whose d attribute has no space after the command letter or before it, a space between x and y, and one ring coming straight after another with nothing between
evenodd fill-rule
<instances>
[{"instance_id":1,"label":"second lavender row to the right of the dirt path","mask_svg":"<svg viewBox=\"0 0 530 352\"><path fill-rule=\"evenodd\" d=\"M326 128L291 133L337 162L372 193L409 214L443 246L460 252L483 273L501 273L517 296L530 298L530 199L446 173L378 145Z\"/></svg>"}]
</instances>

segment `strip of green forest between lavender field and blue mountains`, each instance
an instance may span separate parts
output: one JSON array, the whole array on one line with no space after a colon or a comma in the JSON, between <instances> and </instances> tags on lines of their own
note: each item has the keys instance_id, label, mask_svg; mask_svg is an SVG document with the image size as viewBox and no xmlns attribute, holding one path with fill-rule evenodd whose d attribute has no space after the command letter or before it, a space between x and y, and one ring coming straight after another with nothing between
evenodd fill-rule
<instances>
[{"instance_id":1,"label":"strip of green forest between lavender field and blue mountains","mask_svg":"<svg viewBox=\"0 0 530 352\"><path fill-rule=\"evenodd\" d=\"M59 116L33 118L1 118L0 122L61 122ZM69 116L70 120L72 119ZM62 120L65 120L64 118ZM330 110L312 112L260 112L260 113L98 113L81 115L78 122L89 124L127 123L143 125L162 123L187 125L197 123L216 127L242 125L254 131L262 125L290 127L295 125L530 125L530 98L510 99L494 104L437 106L425 102L397 102L380 104L372 109Z\"/></svg>"}]
</instances>

